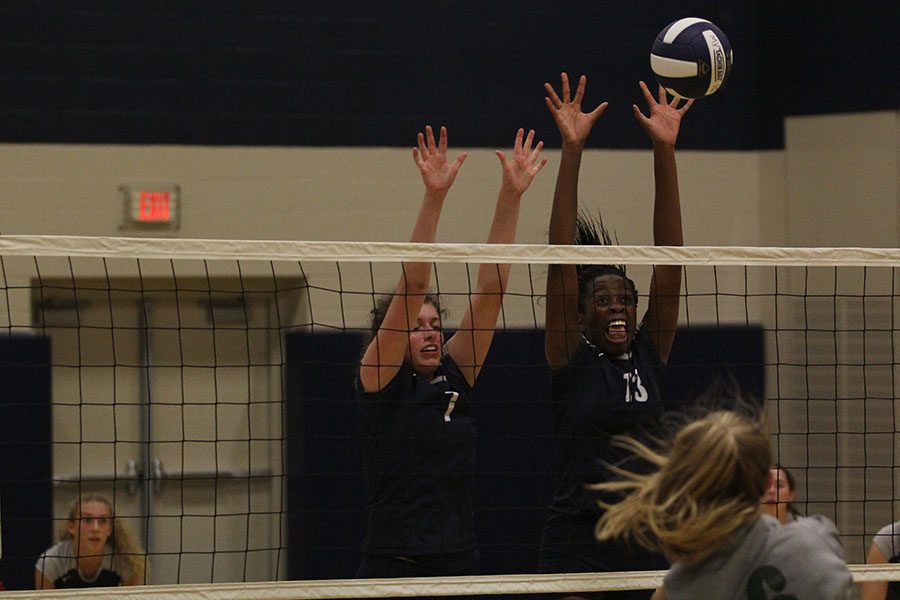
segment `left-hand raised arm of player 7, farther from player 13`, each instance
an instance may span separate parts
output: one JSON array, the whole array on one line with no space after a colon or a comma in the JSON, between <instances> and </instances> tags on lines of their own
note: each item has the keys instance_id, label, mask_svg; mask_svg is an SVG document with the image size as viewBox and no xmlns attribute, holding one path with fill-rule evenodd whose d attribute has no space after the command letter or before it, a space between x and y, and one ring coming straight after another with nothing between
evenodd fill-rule
<instances>
[{"instance_id":1,"label":"left-hand raised arm of player 7, farther from player 13","mask_svg":"<svg viewBox=\"0 0 900 600\"><path fill-rule=\"evenodd\" d=\"M444 199L466 154L460 154L455 162L450 163L447 160L447 129L441 127L440 139L436 143L431 127L426 127L424 134L419 133L418 147L413 148L413 159L425 184L425 197L409 241L433 242ZM381 390L400 369L409 344L409 332L415 327L430 283L431 263L403 263L403 273L384 320L359 365L359 378L365 391Z\"/></svg>"}]
</instances>

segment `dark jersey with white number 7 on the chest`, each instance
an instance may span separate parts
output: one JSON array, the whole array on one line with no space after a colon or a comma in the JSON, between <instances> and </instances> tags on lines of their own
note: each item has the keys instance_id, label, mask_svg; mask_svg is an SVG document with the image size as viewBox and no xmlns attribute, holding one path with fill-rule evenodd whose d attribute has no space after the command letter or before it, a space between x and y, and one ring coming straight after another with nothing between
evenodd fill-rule
<instances>
[{"instance_id":1,"label":"dark jersey with white number 7 on the chest","mask_svg":"<svg viewBox=\"0 0 900 600\"><path fill-rule=\"evenodd\" d=\"M470 391L445 356L429 379L404 364L383 390L358 394L368 494L365 554L453 554L455 563L465 563L454 568L474 562Z\"/></svg>"}]
</instances>

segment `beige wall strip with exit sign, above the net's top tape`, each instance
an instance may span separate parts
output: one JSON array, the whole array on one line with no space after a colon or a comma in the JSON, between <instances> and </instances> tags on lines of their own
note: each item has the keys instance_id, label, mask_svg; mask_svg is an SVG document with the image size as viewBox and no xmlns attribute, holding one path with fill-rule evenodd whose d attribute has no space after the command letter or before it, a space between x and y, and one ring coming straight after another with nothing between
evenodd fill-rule
<instances>
[{"instance_id":1,"label":"beige wall strip with exit sign, above the net's top tape","mask_svg":"<svg viewBox=\"0 0 900 600\"><path fill-rule=\"evenodd\" d=\"M788 119L783 152L679 155L685 239L697 245L897 246L898 113ZM469 160L439 241L486 234L499 183L491 150ZM519 239L543 243L558 151L526 196ZM123 183L182 187L174 233L122 230ZM0 146L4 234L404 240L421 195L408 149ZM619 240L650 243L649 151L589 151L583 203Z\"/></svg>"}]
</instances>

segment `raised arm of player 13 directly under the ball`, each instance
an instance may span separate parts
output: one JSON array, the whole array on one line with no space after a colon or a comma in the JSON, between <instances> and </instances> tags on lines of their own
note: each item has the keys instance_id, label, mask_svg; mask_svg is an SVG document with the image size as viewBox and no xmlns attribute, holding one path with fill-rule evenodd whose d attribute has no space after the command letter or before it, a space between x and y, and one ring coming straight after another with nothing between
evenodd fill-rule
<instances>
[{"instance_id":1,"label":"raised arm of player 13 directly under the ball","mask_svg":"<svg viewBox=\"0 0 900 600\"><path fill-rule=\"evenodd\" d=\"M645 116L636 104L632 106L632 110L653 142L653 175L656 182L653 243L657 246L683 246L675 141L678 139L681 119L694 101L688 100L683 105L677 98L668 101L663 86L659 86L657 100L650 93L647 84L642 81L640 86L647 101L649 116ZM680 293L681 267L654 266L643 324L663 362L668 361L672 342L675 340Z\"/></svg>"}]
</instances>

